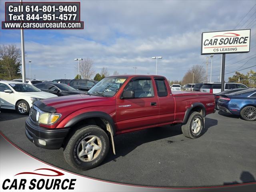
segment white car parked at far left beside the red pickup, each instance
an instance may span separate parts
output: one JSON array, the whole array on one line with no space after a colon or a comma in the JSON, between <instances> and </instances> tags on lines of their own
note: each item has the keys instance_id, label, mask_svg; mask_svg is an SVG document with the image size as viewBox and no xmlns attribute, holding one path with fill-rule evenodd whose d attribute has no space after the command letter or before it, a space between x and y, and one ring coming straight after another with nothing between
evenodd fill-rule
<instances>
[{"instance_id":1,"label":"white car parked at far left beside the red pickup","mask_svg":"<svg viewBox=\"0 0 256 192\"><path fill-rule=\"evenodd\" d=\"M2 109L14 109L19 114L28 114L32 102L57 97L48 92L21 82L0 81L0 105Z\"/></svg>"}]
</instances>

